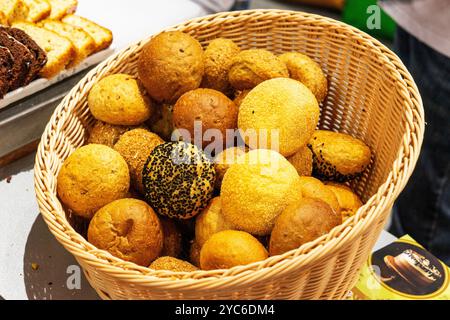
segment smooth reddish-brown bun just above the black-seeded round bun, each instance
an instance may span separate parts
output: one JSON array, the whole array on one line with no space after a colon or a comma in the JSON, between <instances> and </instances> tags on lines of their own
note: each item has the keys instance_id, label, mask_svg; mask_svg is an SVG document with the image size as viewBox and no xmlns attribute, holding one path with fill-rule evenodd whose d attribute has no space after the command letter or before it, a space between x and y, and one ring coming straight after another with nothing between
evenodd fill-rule
<instances>
[{"instance_id":1,"label":"smooth reddish-brown bun just above the black-seeded round bun","mask_svg":"<svg viewBox=\"0 0 450 320\"><path fill-rule=\"evenodd\" d=\"M195 137L195 122L200 122L204 136L207 130L218 130L219 141L202 140L203 148L209 144L223 147L227 129L237 128L238 108L227 96L213 89L195 89L183 94L173 109L173 125L189 132L191 142ZM204 137L203 137L204 138Z\"/></svg>"}]
</instances>

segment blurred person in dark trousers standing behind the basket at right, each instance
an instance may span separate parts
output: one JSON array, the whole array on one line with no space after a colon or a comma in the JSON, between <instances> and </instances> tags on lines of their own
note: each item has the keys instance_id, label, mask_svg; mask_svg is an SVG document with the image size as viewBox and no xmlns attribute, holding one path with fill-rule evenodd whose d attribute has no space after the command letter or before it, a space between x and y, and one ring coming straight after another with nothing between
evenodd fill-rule
<instances>
[{"instance_id":1,"label":"blurred person in dark trousers standing behind the basket at right","mask_svg":"<svg viewBox=\"0 0 450 320\"><path fill-rule=\"evenodd\" d=\"M419 87L426 121L422 152L390 231L411 235L450 264L450 1L379 4L398 24L394 49Z\"/></svg>"}]
</instances>

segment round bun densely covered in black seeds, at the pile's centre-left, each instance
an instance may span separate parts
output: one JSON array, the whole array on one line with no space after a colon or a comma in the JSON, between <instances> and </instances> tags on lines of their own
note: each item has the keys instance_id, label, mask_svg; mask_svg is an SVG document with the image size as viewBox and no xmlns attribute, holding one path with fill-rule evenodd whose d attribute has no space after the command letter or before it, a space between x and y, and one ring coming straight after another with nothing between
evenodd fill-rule
<instances>
[{"instance_id":1,"label":"round bun densely covered in black seeds, at the pile's centre-left","mask_svg":"<svg viewBox=\"0 0 450 320\"><path fill-rule=\"evenodd\" d=\"M167 142L144 166L145 199L160 215L190 219L208 205L215 179L214 164L195 145Z\"/></svg>"}]
</instances>

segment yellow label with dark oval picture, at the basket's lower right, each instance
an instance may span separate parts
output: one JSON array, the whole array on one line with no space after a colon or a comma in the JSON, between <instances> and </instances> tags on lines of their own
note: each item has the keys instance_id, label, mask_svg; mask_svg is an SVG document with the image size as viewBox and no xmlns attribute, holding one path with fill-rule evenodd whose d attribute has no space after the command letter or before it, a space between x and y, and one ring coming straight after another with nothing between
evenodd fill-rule
<instances>
[{"instance_id":1,"label":"yellow label with dark oval picture, at the basket's lower right","mask_svg":"<svg viewBox=\"0 0 450 320\"><path fill-rule=\"evenodd\" d=\"M352 298L449 300L449 268L410 236L404 236L369 257Z\"/></svg>"}]
</instances>

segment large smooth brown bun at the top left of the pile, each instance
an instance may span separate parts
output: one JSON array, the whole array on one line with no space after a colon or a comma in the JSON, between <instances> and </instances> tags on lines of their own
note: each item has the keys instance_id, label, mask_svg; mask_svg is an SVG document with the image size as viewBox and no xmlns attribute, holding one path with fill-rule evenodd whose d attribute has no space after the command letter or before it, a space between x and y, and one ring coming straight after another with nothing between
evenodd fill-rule
<instances>
[{"instance_id":1,"label":"large smooth brown bun at the top left of the pile","mask_svg":"<svg viewBox=\"0 0 450 320\"><path fill-rule=\"evenodd\" d=\"M180 31L152 38L139 56L139 78L158 102L175 103L183 93L197 89L204 72L202 46Z\"/></svg>"}]
</instances>

